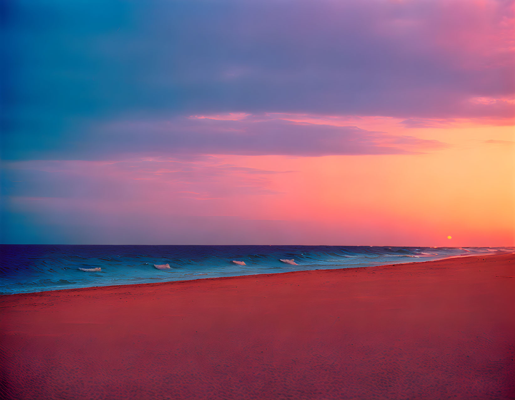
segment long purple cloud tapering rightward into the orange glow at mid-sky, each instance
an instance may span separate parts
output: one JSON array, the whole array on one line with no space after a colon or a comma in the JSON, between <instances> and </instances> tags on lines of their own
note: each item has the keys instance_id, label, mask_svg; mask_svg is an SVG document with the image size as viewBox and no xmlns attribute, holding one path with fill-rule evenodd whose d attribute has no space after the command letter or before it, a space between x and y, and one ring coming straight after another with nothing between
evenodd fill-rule
<instances>
[{"instance_id":1,"label":"long purple cloud tapering rightward into the orange glow at mid-sky","mask_svg":"<svg viewBox=\"0 0 515 400\"><path fill-rule=\"evenodd\" d=\"M445 147L437 140L284 119L174 118L111 122L92 129L80 157L113 154L370 155L420 153ZM101 141L102 148L97 149ZM67 146L65 142L62 146ZM68 149L69 149L68 145ZM68 150L68 151L71 151ZM78 155L76 155L78 156Z\"/></svg>"}]
</instances>

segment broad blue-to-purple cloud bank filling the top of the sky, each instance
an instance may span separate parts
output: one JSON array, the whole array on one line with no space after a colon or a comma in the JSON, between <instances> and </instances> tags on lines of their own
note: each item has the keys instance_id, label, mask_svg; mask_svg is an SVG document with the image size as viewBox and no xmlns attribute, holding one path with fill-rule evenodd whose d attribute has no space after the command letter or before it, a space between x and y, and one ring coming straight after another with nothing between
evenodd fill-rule
<instances>
[{"instance_id":1,"label":"broad blue-to-purple cloud bank filling the top of the sky","mask_svg":"<svg viewBox=\"0 0 515 400\"><path fill-rule=\"evenodd\" d=\"M512 4L20 3L5 28L16 51L6 64L3 157L73 153L63 140L80 148L95 135L85 126L127 115L506 120L515 107Z\"/></svg>"}]
</instances>

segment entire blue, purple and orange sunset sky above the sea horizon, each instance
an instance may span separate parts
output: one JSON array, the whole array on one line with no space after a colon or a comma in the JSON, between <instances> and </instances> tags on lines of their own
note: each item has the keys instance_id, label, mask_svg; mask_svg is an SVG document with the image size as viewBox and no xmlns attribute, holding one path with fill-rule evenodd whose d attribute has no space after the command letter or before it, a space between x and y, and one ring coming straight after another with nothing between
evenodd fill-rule
<instances>
[{"instance_id":1,"label":"entire blue, purple and orange sunset sky above the sea horizon","mask_svg":"<svg viewBox=\"0 0 515 400\"><path fill-rule=\"evenodd\" d=\"M3 7L2 243L515 246L511 0Z\"/></svg>"}]
</instances>

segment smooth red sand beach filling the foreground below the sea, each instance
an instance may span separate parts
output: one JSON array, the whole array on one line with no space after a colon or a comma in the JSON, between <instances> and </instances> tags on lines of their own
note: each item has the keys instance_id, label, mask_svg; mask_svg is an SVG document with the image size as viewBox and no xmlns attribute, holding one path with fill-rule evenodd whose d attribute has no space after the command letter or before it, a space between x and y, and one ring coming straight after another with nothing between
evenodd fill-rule
<instances>
[{"instance_id":1,"label":"smooth red sand beach filling the foreground below the sea","mask_svg":"<svg viewBox=\"0 0 515 400\"><path fill-rule=\"evenodd\" d=\"M13 399L515 398L515 256L0 296Z\"/></svg>"}]
</instances>

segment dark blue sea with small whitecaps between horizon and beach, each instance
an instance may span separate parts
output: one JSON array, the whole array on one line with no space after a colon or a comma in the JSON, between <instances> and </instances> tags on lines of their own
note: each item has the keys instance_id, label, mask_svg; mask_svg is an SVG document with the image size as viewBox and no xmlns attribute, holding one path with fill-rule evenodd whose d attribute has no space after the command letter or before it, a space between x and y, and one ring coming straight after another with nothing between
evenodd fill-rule
<instances>
[{"instance_id":1,"label":"dark blue sea with small whitecaps between horizon and beach","mask_svg":"<svg viewBox=\"0 0 515 400\"><path fill-rule=\"evenodd\" d=\"M0 294L366 267L515 248L377 246L0 245ZM280 259L295 259L288 265ZM232 260L244 261L236 265ZM154 264L169 264L158 270ZM101 268L82 271L79 268Z\"/></svg>"}]
</instances>

